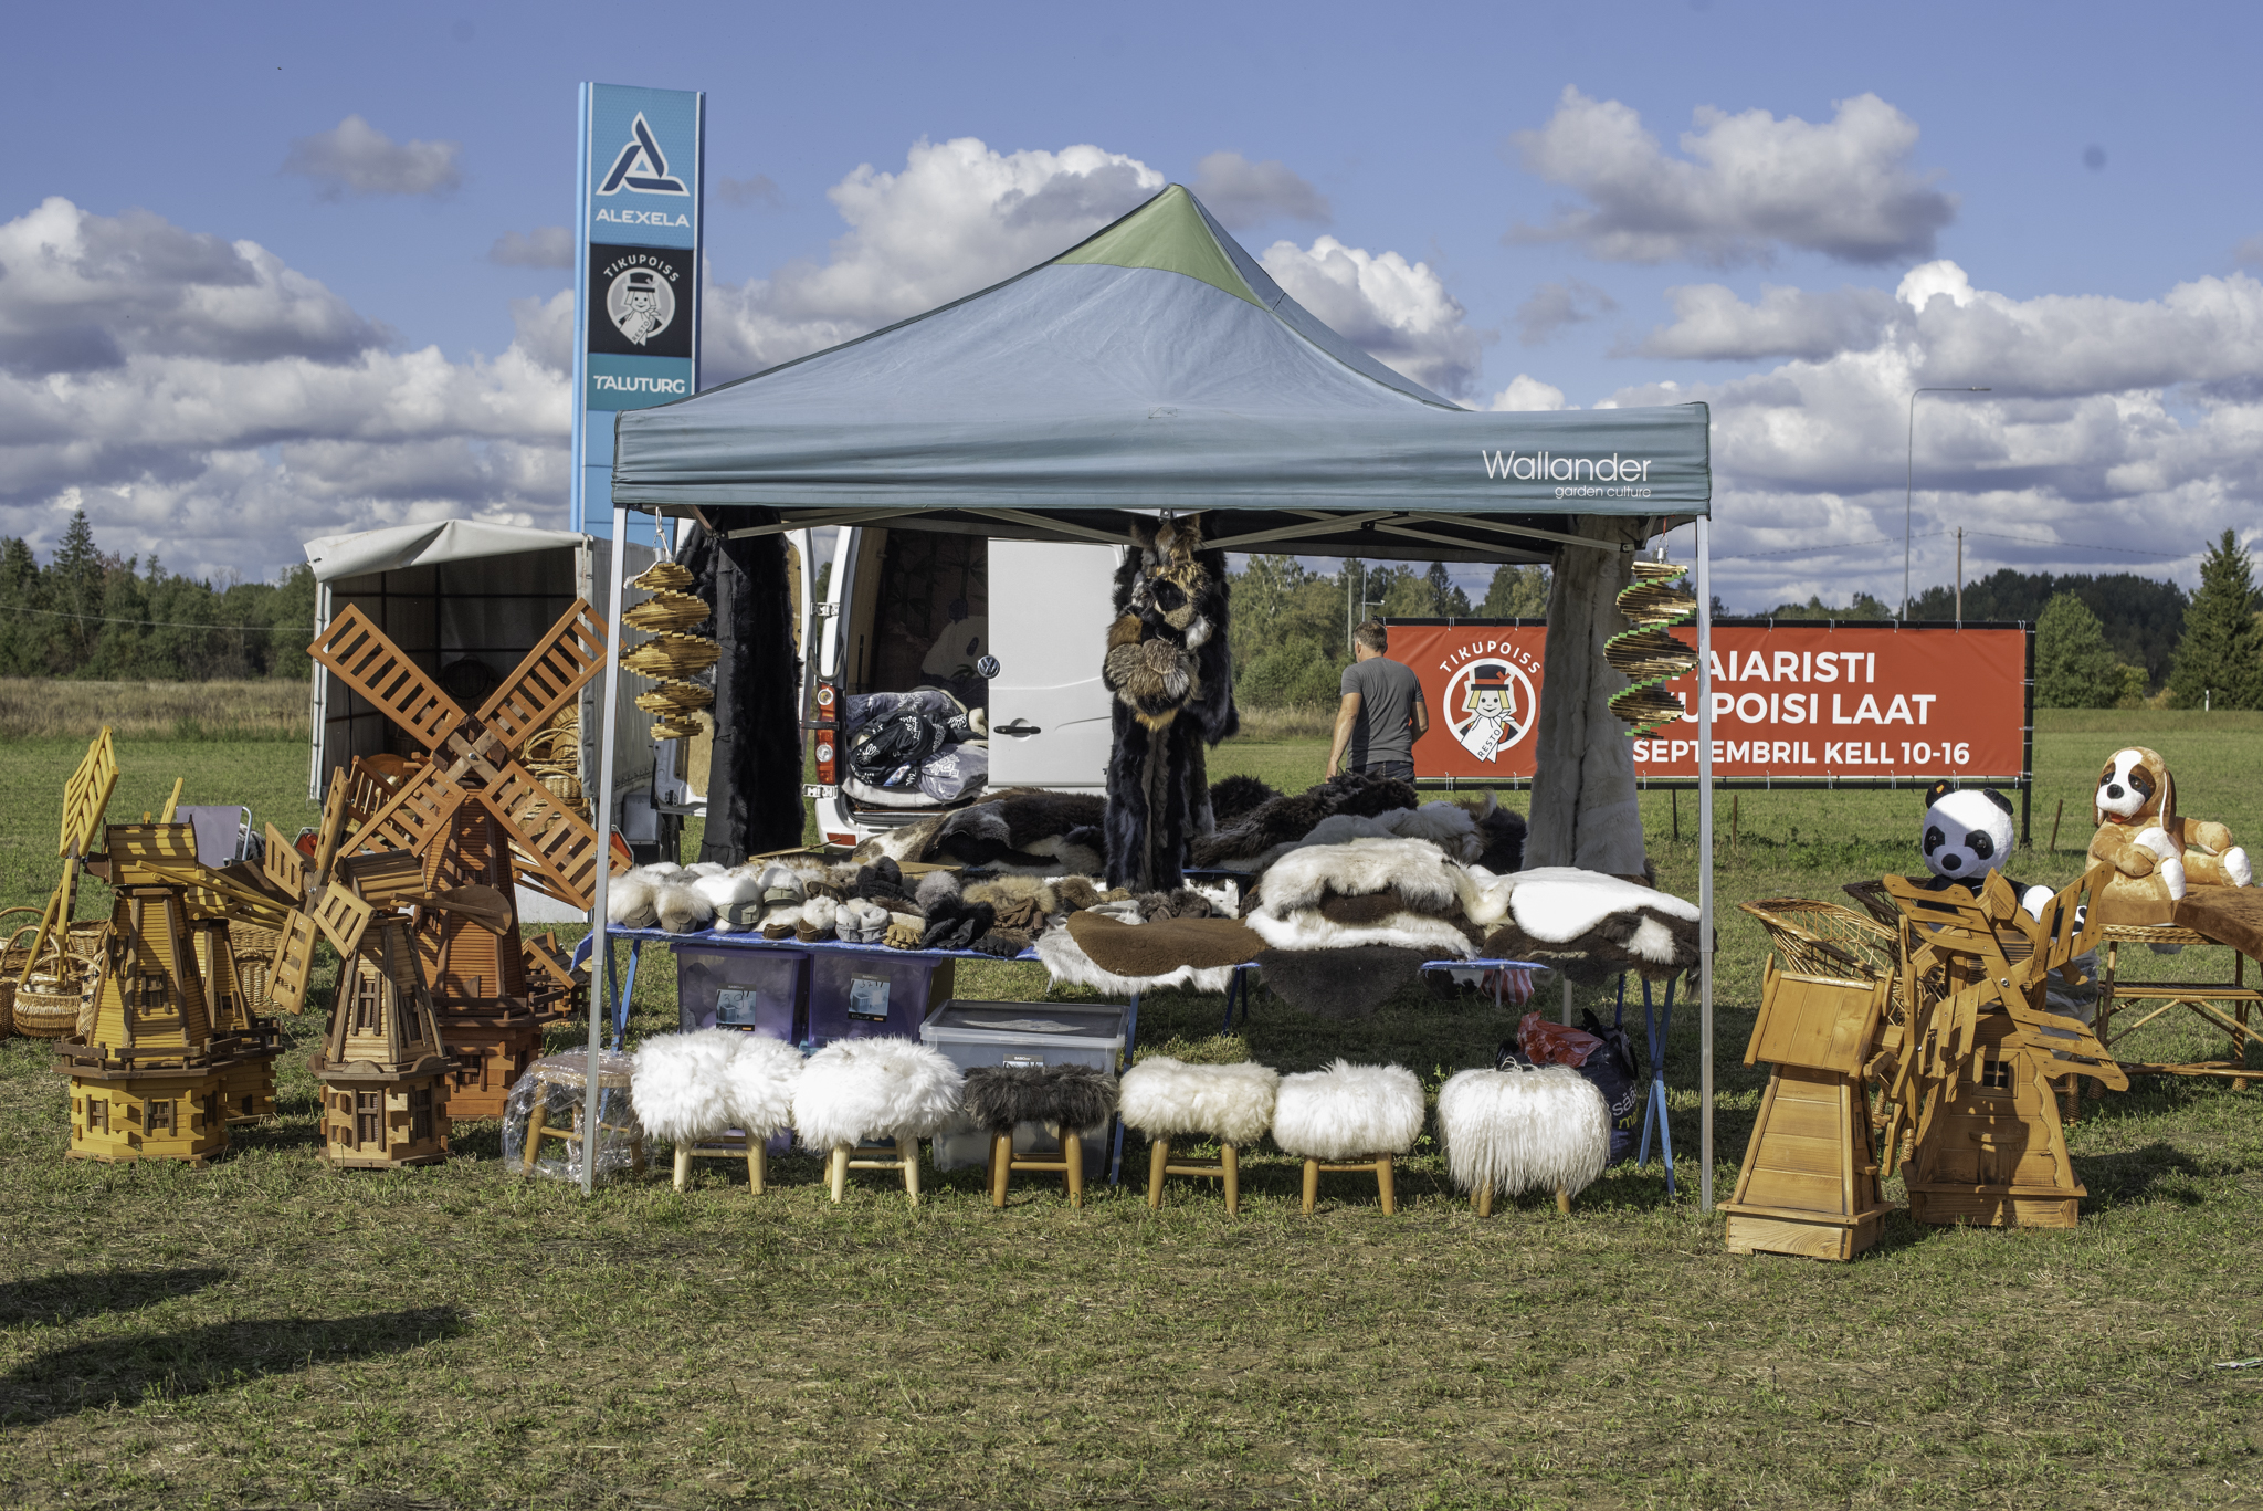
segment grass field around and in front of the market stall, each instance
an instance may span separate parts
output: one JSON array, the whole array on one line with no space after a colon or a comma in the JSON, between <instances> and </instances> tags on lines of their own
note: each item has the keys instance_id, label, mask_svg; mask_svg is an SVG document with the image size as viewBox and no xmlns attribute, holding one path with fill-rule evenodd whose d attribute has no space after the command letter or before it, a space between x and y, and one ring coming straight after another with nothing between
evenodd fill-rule
<instances>
[{"instance_id":1,"label":"grass field around and in front of the market stall","mask_svg":"<svg viewBox=\"0 0 2263 1511\"><path fill-rule=\"evenodd\" d=\"M2263 838L2258 716L2059 714L2037 739L2037 845L2068 802L2080 870L2107 750L2145 739L2186 811ZM0 745L0 904L52 883L77 739ZM294 743L120 741L115 816L242 800L306 822ZM1245 741L1213 772L1292 786L1310 739ZM1661 881L1695 895L1695 804ZM1718 886L1727 1194L1761 1076L1740 1065L1772 893L1912 870L1914 793L1745 793ZM2191 972L2193 956L2143 970ZM2209 961L2206 965L2213 965ZM1043 972L962 967L975 997ZM1362 1024L1258 997L1154 994L1141 1044L1301 1069L1396 1058L1432 1085L1514 1024L1408 994ZM634 1033L672 1026L640 974ZM301 1049L312 1017L290 1022ZM2163 1031L2148 1053L2202 1051ZM760 1198L708 1164L584 1201L457 1128L432 1171L337 1173L303 1053L283 1115L208 1171L61 1160L48 1053L0 1047L0 1502L29 1506L2191 1506L2263 1500L2263 1092L2141 1081L2071 1130L2071 1232L1894 1219L1856 1264L1745 1260L1697 1212L1695 1008L1668 1056L1681 1196L1616 1169L1571 1219L1471 1219L1432 1146L1385 1219L1374 1194L1254 1158L1240 1221L1179 1187L1147 1212L1041 1180L993 1212L980 1173L905 1207L880 1178L824 1201L788 1158ZM1127 1167L1138 1160L1129 1151ZM1349 1178L1346 1178L1349 1180Z\"/></svg>"}]
</instances>

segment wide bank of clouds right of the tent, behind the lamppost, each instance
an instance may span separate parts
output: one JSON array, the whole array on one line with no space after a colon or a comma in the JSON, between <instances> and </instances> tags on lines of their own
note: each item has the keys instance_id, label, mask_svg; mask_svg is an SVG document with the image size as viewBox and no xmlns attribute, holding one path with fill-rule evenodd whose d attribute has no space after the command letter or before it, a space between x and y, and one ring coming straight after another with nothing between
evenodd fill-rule
<instances>
[{"instance_id":1,"label":"wide bank of clouds right of the tent, behind the lamppost","mask_svg":"<svg viewBox=\"0 0 2263 1511\"><path fill-rule=\"evenodd\" d=\"M1792 292L1779 313L1797 308ZM1731 603L1901 596L1917 387L1991 390L1919 401L1919 589L1948 580L1946 532L1957 526L1969 532L1967 575L2019 566L2186 582L2225 528L2254 532L2263 494L2256 279L2193 279L2159 299L2012 299L1973 288L1955 263L1928 263L1894 297L1869 294L1883 317L1835 353L1611 399L1711 406L1715 550L1738 557L1722 564L1720 591ZM1756 349L1772 328L1770 299L1715 301L1706 319L1718 349ZM1695 342L1695 322L1670 331L1684 326Z\"/></svg>"}]
</instances>

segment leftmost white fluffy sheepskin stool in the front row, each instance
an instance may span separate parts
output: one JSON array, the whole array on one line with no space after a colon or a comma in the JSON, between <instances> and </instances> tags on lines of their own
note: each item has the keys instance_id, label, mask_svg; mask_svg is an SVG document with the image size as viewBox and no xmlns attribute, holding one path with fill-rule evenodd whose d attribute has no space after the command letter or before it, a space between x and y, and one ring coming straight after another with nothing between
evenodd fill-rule
<instances>
[{"instance_id":1,"label":"leftmost white fluffy sheepskin stool in the front row","mask_svg":"<svg viewBox=\"0 0 2263 1511\"><path fill-rule=\"evenodd\" d=\"M769 1137L794 1121L801 1051L767 1033L699 1028L645 1040L629 1085L645 1130L677 1146L677 1189L692 1160L747 1160L747 1187L769 1178ZM649 1110L649 1117L645 1112Z\"/></svg>"}]
</instances>

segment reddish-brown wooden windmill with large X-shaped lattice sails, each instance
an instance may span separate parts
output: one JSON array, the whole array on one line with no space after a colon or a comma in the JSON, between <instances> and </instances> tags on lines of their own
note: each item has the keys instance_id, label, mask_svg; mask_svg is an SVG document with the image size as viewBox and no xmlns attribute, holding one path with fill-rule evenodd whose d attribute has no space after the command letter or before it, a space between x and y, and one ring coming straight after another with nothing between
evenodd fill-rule
<instances>
[{"instance_id":1,"label":"reddish-brown wooden windmill with large X-shaped lattice sails","mask_svg":"<svg viewBox=\"0 0 2263 1511\"><path fill-rule=\"evenodd\" d=\"M507 908L500 936L441 908L425 911L414 931L453 1058L455 1117L502 1117L511 1083L541 1049L514 888L591 906L604 847L518 752L604 666L604 621L575 600L475 711L457 707L358 607L330 621L308 648L423 750L407 768L355 763L346 786L358 838L421 856L425 893L484 886Z\"/></svg>"}]
</instances>

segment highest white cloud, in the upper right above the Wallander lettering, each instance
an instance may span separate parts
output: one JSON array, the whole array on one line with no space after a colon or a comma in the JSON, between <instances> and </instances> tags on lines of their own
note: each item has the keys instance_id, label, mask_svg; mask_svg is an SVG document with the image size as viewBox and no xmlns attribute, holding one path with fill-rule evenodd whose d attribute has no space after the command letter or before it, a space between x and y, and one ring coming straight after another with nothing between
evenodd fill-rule
<instances>
[{"instance_id":1,"label":"highest white cloud, in the upper right above the Wallander lettering","mask_svg":"<svg viewBox=\"0 0 2263 1511\"><path fill-rule=\"evenodd\" d=\"M1509 238L1568 240L1614 263L1765 261L1774 247L1847 263L1930 256L1955 195L1910 168L1917 122L1878 95L1840 100L1824 125L1767 111L1695 113L1686 156L1668 156L1641 116L1566 88L1539 131L1509 138L1525 170L1586 204Z\"/></svg>"}]
</instances>

